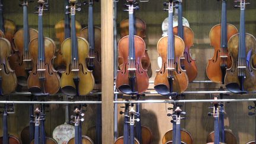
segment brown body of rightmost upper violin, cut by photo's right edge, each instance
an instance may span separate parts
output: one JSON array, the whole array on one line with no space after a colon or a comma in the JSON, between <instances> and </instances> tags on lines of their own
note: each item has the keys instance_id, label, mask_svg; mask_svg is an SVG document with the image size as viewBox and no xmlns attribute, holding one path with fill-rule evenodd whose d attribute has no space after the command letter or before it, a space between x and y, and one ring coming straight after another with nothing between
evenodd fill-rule
<instances>
[{"instance_id":1,"label":"brown body of rightmost upper violin, cut by photo's right edge","mask_svg":"<svg viewBox=\"0 0 256 144\"><path fill-rule=\"evenodd\" d=\"M231 91L240 91L241 84L238 78L238 46L239 34L231 37L228 43L229 55L232 56L232 66L227 69L225 76L225 84ZM256 89L256 69L252 65L252 59L255 58L256 40L251 34L245 34L245 54L247 55L247 66L245 68L246 78L244 79L244 89L246 91L255 91Z\"/></svg>"}]
</instances>

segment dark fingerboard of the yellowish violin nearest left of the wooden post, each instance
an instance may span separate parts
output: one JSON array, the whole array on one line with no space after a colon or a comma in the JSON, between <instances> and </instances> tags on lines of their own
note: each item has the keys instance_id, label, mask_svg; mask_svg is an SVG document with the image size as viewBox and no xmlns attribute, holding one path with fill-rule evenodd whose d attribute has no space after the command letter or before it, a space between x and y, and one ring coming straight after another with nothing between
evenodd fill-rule
<instances>
[{"instance_id":1,"label":"dark fingerboard of the yellowish violin nearest left of the wooden post","mask_svg":"<svg viewBox=\"0 0 256 144\"><path fill-rule=\"evenodd\" d=\"M78 44L76 39L75 12L74 14L71 14L71 43L72 43L72 60L73 59L78 60Z\"/></svg>"}]
</instances>

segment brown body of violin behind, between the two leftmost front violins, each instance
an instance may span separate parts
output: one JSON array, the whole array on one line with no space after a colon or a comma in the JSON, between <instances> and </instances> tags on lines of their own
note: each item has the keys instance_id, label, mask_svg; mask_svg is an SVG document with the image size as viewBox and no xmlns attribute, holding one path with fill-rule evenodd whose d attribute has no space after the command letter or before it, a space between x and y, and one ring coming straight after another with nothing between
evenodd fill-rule
<instances>
[{"instance_id":1,"label":"brown body of violin behind, between the two leftmost front violins","mask_svg":"<svg viewBox=\"0 0 256 144\"><path fill-rule=\"evenodd\" d=\"M30 40L33 40L38 37L38 31L30 28L29 30ZM18 30L14 35L14 51L17 53L17 59L14 62L11 62L11 68L14 69L15 74L18 79L18 84L22 86L27 85L28 71L32 69L31 57L27 54L24 55L24 30Z\"/></svg>"}]
</instances>

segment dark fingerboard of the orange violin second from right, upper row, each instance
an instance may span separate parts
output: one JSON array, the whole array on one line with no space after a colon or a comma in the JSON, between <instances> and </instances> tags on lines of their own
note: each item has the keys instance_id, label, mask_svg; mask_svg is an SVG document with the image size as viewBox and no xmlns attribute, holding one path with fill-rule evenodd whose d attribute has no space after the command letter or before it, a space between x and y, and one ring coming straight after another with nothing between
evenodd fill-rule
<instances>
[{"instance_id":1,"label":"dark fingerboard of the orange violin second from right, upper row","mask_svg":"<svg viewBox=\"0 0 256 144\"><path fill-rule=\"evenodd\" d=\"M221 38L220 47L223 51L222 54L227 53L228 47L228 31L227 31L227 16L226 16L226 1L222 1L222 20L221 20Z\"/></svg>"}]
</instances>

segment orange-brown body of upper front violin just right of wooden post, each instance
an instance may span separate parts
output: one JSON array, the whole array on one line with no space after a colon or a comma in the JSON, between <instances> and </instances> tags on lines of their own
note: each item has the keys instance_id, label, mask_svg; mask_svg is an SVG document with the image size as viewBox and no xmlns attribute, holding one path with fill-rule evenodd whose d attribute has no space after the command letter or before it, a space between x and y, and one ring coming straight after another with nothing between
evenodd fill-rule
<instances>
[{"instance_id":1,"label":"orange-brown body of upper front violin just right of wooden post","mask_svg":"<svg viewBox=\"0 0 256 144\"><path fill-rule=\"evenodd\" d=\"M149 86L149 78L147 70L142 67L142 57L145 57L145 42L141 37L134 36L135 40L135 60L136 60L136 82L135 89L139 94L145 92ZM122 59L123 64L120 65L120 71L117 73L116 85L117 88L126 87L124 91L130 93L132 88L129 86L129 36L123 37L118 44L119 47L119 58ZM126 93L126 92L125 92Z\"/></svg>"}]
</instances>

